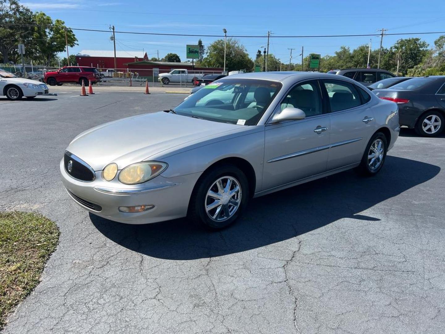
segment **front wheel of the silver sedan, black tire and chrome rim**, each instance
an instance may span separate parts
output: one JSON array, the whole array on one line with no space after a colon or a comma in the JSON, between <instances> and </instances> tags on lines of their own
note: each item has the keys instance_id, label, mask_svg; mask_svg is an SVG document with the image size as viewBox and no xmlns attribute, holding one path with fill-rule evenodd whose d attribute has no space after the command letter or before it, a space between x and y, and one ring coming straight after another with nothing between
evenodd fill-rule
<instances>
[{"instance_id":1,"label":"front wheel of the silver sedan, black tire and chrome rim","mask_svg":"<svg viewBox=\"0 0 445 334\"><path fill-rule=\"evenodd\" d=\"M206 171L198 180L188 216L210 230L226 228L242 214L249 196L243 171L233 165L221 165Z\"/></svg>"}]
</instances>

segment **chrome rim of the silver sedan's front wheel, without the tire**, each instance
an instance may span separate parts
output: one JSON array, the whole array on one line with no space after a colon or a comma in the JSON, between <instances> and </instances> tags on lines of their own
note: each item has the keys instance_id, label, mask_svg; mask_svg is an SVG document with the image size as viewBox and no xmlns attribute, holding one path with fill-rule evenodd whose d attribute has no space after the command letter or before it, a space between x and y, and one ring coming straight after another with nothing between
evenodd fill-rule
<instances>
[{"instance_id":1,"label":"chrome rim of the silver sedan's front wheel, without the tire","mask_svg":"<svg viewBox=\"0 0 445 334\"><path fill-rule=\"evenodd\" d=\"M241 204L241 187L237 179L223 176L209 188L205 200L207 216L214 221L231 218Z\"/></svg>"}]
</instances>

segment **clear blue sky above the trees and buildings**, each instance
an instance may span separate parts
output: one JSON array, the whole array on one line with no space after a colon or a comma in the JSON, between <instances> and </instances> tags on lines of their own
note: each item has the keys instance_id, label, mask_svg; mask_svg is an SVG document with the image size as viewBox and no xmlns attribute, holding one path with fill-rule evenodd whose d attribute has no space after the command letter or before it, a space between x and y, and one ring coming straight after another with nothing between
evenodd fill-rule
<instances>
[{"instance_id":1,"label":"clear blue sky above the trees and buildings","mask_svg":"<svg viewBox=\"0 0 445 334\"><path fill-rule=\"evenodd\" d=\"M59 18L72 28L106 30L114 24L117 31L147 33L221 34L227 35L340 35L368 34L377 29L388 33L445 31L444 0L404 1L123 1L87 0L27 0L22 4L40 10L53 19ZM403 6L402 6L403 4ZM79 45L70 54L81 49L112 50L109 33L76 31ZM272 35L273 36L273 35ZM383 45L391 46L400 38L421 37L433 47L440 35L385 36ZM117 34L117 50L142 50L149 57L178 53L185 60L186 44L197 44L199 37L148 36ZM301 47L304 53L333 54L341 45L351 49L368 44L370 37L336 38L271 38L269 52L283 62L289 61L289 50L297 62ZM204 45L216 37L202 37ZM251 57L264 38L239 38ZM380 37L372 37L372 48L378 48ZM298 59L297 59L298 58Z\"/></svg>"}]
</instances>

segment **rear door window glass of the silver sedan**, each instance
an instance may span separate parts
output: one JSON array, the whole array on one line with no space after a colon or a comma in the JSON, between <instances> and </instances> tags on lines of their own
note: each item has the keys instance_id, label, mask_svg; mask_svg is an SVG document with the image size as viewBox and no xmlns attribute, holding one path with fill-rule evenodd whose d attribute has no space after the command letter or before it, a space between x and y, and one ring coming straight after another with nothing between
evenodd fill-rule
<instances>
[{"instance_id":1,"label":"rear door window glass of the silver sedan","mask_svg":"<svg viewBox=\"0 0 445 334\"><path fill-rule=\"evenodd\" d=\"M337 80L324 80L323 82L328 92L331 112L360 106L360 96L349 82Z\"/></svg>"}]
</instances>

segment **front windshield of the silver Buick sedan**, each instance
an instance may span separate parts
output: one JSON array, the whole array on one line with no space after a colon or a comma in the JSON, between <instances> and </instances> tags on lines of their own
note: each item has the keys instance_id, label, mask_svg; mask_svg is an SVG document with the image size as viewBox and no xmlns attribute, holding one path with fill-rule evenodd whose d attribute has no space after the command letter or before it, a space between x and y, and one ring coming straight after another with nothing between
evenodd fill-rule
<instances>
[{"instance_id":1,"label":"front windshield of the silver Buick sedan","mask_svg":"<svg viewBox=\"0 0 445 334\"><path fill-rule=\"evenodd\" d=\"M221 79L203 86L174 111L215 122L256 125L281 87L275 81Z\"/></svg>"}]
</instances>

